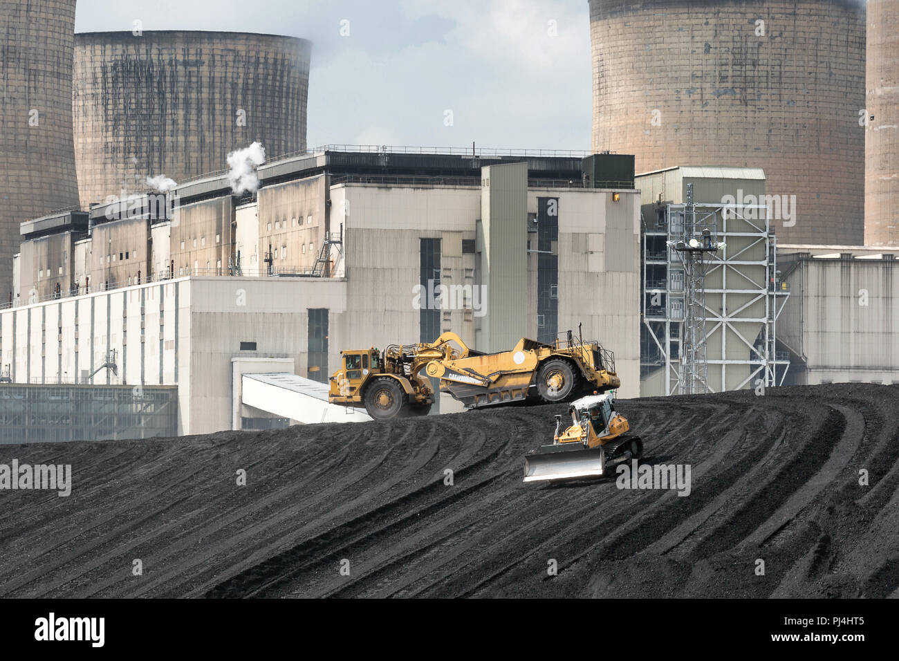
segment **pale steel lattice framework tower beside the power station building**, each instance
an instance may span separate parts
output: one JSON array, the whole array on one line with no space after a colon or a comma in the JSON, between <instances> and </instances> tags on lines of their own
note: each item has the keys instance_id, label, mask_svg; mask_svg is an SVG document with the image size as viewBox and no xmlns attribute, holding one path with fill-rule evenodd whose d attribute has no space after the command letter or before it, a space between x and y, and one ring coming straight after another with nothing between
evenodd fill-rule
<instances>
[{"instance_id":1,"label":"pale steel lattice framework tower beside the power station building","mask_svg":"<svg viewBox=\"0 0 899 661\"><path fill-rule=\"evenodd\" d=\"M702 249L708 243L719 249ZM776 328L789 291L776 246L764 205L658 205L644 229L641 370L661 371L660 394L784 382Z\"/></svg>"}]
</instances>

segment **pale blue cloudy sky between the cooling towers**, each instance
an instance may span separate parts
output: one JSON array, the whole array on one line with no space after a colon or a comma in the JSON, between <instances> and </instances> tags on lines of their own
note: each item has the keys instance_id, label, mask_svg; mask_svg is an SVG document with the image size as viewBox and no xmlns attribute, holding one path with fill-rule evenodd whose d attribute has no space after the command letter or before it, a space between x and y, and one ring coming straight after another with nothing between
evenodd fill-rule
<instances>
[{"instance_id":1,"label":"pale blue cloudy sky between the cooling towers","mask_svg":"<svg viewBox=\"0 0 899 661\"><path fill-rule=\"evenodd\" d=\"M137 19L311 40L310 146L590 148L586 0L78 0L76 31Z\"/></svg>"}]
</instances>

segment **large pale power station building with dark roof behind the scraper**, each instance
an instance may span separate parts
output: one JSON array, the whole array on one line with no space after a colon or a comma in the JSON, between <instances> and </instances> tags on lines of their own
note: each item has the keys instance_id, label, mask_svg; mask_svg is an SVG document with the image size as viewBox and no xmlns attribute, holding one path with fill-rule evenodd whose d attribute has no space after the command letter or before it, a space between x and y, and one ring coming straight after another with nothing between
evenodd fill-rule
<instances>
[{"instance_id":1,"label":"large pale power station building with dark roof behind the scraper","mask_svg":"<svg viewBox=\"0 0 899 661\"><path fill-rule=\"evenodd\" d=\"M583 324L639 393L632 158L328 148L257 174L255 193L215 174L23 223L0 391L174 386L179 434L259 428L286 421L246 403L245 374L325 384L343 349L453 330L498 351Z\"/></svg>"}]
</instances>

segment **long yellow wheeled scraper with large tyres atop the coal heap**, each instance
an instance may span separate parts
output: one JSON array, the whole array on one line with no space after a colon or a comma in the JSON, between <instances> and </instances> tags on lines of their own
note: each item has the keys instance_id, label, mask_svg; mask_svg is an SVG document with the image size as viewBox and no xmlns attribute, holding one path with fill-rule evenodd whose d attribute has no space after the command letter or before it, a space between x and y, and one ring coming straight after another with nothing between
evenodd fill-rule
<instances>
[{"instance_id":1,"label":"long yellow wheeled scraper with large tyres atop the coal heap","mask_svg":"<svg viewBox=\"0 0 899 661\"><path fill-rule=\"evenodd\" d=\"M598 342L584 342L580 331L565 339L538 342L522 337L511 351L480 353L447 332L432 343L391 344L341 352L331 376L328 401L365 406L371 417L427 415L434 392L449 393L467 408L510 402L567 401L586 392L619 388L614 354Z\"/></svg>"}]
</instances>

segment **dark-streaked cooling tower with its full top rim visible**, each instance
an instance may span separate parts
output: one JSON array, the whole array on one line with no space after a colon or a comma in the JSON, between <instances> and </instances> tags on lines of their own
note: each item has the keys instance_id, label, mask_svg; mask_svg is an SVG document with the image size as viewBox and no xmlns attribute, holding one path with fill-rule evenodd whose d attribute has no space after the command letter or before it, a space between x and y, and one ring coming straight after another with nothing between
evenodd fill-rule
<instances>
[{"instance_id":1,"label":"dark-streaked cooling tower with its full top rim visible","mask_svg":"<svg viewBox=\"0 0 899 661\"><path fill-rule=\"evenodd\" d=\"M75 35L81 203L227 168L254 140L269 158L306 148L310 44L204 31Z\"/></svg>"}]
</instances>

